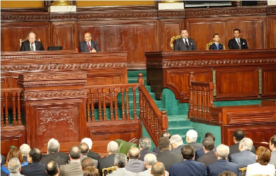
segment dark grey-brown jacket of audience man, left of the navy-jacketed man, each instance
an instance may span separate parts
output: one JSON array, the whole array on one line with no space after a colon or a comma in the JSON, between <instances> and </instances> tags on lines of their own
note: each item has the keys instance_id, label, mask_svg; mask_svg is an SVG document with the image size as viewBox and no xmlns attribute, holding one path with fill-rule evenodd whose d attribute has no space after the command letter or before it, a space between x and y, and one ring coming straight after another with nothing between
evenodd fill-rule
<instances>
[{"instance_id":1,"label":"dark grey-brown jacket of audience man, left of the navy-jacketed man","mask_svg":"<svg viewBox=\"0 0 276 176\"><path fill-rule=\"evenodd\" d=\"M163 150L159 155L157 155L157 161L162 162L165 165L165 170L169 172L171 165L181 163L183 157L171 150Z\"/></svg>"}]
</instances>

